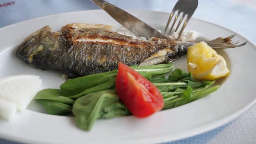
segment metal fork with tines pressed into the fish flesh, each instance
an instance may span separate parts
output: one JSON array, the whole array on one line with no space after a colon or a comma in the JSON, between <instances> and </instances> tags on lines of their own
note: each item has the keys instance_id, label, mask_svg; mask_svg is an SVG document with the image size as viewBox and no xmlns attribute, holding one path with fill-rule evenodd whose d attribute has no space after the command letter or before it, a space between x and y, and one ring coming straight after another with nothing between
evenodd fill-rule
<instances>
[{"instance_id":1,"label":"metal fork with tines pressed into the fish flesh","mask_svg":"<svg viewBox=\"0 0 256 144\"><path fill-rule=\"evenodd\" d=\"M184 24L181 27L179 36L177 39L179 39L179 37L181 36L181 33L183 32L183 30L185 29L185 27L187 26L188 21L190 20L191 16L193 15L194 11L197 9L197 5L198 5L198 0L178 0L177 3L175 4L173 10L171 11L170 17L167 21L167 24L165 26L164 29L164 34L167 31L167 28L171 22L172 17L175 15L173 24L171 25L171 29L169 31L169 35L171 34L171 31L178 19L178 17L180 16L180 20L179 23L176 26L176 29L174 30L174 32L177 32L179 26L181 25L182 20L185 18Z\"/></svg>"}]
</instances>

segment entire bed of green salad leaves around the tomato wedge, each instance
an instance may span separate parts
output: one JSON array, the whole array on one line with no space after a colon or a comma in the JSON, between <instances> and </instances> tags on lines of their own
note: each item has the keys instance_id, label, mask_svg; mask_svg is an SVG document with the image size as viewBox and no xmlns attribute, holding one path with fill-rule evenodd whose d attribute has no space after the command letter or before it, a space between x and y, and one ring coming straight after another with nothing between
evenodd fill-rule
<instances>
[{"instance_id":1,"label":"entire bed of green salad leaves around the tomato wedge","mask_svg":"<svg viewBox=\"0 0 256 144\"><path fill-rule=\"evenodd\" d=\"M219 88L219 85L212 86L214 81L194 80L190 72L174 69L172 63L131 68L159 89L164 99L162 110L195 101ZM49 114L73 113L77 126L90 130L98 118L131 115L114 89L117 72L114 70L69 79L60 85L61 89L44 89L38 92L34 99L43 105ZM168 72L171 74L166 79Z\"/></svg>"}]
</instances>

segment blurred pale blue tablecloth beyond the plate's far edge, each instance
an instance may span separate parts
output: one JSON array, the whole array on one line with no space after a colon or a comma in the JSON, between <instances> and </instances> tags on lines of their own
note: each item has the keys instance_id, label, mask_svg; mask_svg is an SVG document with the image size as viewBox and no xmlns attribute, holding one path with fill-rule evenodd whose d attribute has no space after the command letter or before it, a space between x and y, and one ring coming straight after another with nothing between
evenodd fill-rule
<instances>
[{"instance_id":1,"label":"blurred pale blue tablecloth beyond the plate's far edge","mask_svg":"<svg viewBox=\"0 0 256 144\"><path fill-rule=\"evenodd\" d=\"M170 13L177 0L107 0L121 9ZM39 16L99 9L90 0L0 0L0 27ZM199 0L193 17L216 23L242 35L255 27L256 0ZM247 26L240 26L247 23ZM165 23L163 24L165 25ZM245 29L244 29L245 28ZM251 29L249 29L251 32ZM256 33L254 29L253 32ZM256 37L247 37L256 40Z\"/></svg>"}]
</instances>

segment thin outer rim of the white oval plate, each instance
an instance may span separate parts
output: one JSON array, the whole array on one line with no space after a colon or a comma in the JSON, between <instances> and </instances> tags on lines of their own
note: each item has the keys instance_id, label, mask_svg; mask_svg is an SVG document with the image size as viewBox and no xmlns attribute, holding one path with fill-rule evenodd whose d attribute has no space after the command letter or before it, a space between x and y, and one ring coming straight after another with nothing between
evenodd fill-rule
<instances>
[{"instance_id":1,"label":"thin outer rim of the white oval plate","mask_svg":"<svg viewBox=\"0 0 256 144\"><path fill-rule=\"evenodd\" d=\"M66 13L81 13L81 12L85 12L85 11L103 11L103 10L79 10L79 11L71 11L71 12L66 12ZM164 13L166 14L167 12L162 12L162 11L154 11L154 10L126 10L127 12L154 12L154 13ZM13 23L13 24L10 24L10 25L7 25L7 26L3 26L0 28L0 31L4 30L4 29L9 29L11 28L12 26L16 26L18 24L21 24L21 23L26 23L28 21L34 21L34 20L37 20L37 19L42 19L42 18L46 18L46 17L50 17L50 16L56 16L56 15L59 15L59 14L65 14L65 13L56 13L56 14L50 14L50 15L46 15L46 16L40 16L40 17L36 17L36 18L33 18L33 19L29 19L29 20L23 20L23 21L20 21L20 22L17 22L17 23ZM169 13L168 13L169 14ZM192 17L192 19L194 20L198 20L198 21L202 21L204 23L208 23L208 24L211 24L211 25L214 25L214 26L218 26L218 27L221 27L223 29L226 29L230 32L234 32L236 34L238 34L239 36L243 37L243 39L246 39L247 43L250 43L252 44L255 48L256 48L256 44L254 44L252 41L250 41L249 39L247 39L245 36L241 35L240 33L237 33L236 31L234 30L231 30L229 28L226 28L224 26L221 26L220 24L216 24L216 23L211 23L211 22L208 22L206 20L201 20L201 19L198 19L198 18L194 18ZM15 44L13 44L14 46ZM206 124L206 125L203 125L203 126L200 126L196 129L194 129L193 131L186 131L186 133L188 134L185 134L185 136L183 136L184 134L178 134L178 135L175 135L175 138L172 138L170 137L170 134L164 134L164 135L159 135L159 136L154 136L152 138L137 138L137 139L132 139L132 140L126 140L126 141L123 141L123 143L130 143L130 142L136 142L136 143L159 143L159 142L171 142L171 141L178 141L178 140L181 140L181 139L185 139L185 138L188 138L188 137L193 137L193 136L196 136L198 134L202 134L202 133L205 133L207 131L211 131L213 129L216 129L216 128L219 128L225 124L227 124L228 122L240 117L244 112L248 111L249 108L252 108L252 106L256 103L256 98L254 98L253 101L251 101L249 104L243 106L242 108L240 108L239 111L236 111L234 113L232 113L231 115L227 115L225 116L224 118L221 118L220 120L218 121L214 121L213 123L210 123L210 124ZM31 111L31 110L27 110L27 111ZM33 111L35 112L35 111ZM36 112L38 113L38 112ZM45 115L48 115L48 114L45 114ZM205 128L204 128L205 127ZM3 138L4 140L10 140L10 141L17 141L17 139L19 139L19 141L17 142L23 142L23 143L26 143L26 142L36 142L36 143L44 143L42 141L28 141L28 140L31 140L30 138L29 139L26 139L26 138L23 138L23 137L19 137L19 136L14 136L14 135L9 135L9 134L4 134L4 133L1 133L0 132L0 138ZM114 142L115 143L115 142Z\"/></svg>"}]
</instances>

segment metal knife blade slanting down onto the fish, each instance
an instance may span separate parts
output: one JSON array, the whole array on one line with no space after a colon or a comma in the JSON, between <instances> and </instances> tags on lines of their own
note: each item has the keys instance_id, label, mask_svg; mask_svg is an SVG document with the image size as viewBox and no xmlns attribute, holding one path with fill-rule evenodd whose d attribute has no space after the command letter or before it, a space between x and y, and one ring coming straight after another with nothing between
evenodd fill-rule
<instances>
[{"instance_id":1,"label":"metal knife blade slanting down onto the fish","mask_svg":"<svg viewBox=\"0 0 256 144\"><path fill-rule=\"evenodd\" d=\"M106 2L105 0L91 0L98 7L101 7L102 10L105 10L112 18L114 18L118 23L124 26L126 29L130 30L137 36L144 36L147 39L151 37L157 37L161 39L168 39L167 36L164 36L162 33L158 32L148 24L139 20L135 16L127 13L125 10L122 10L114 5Z\"/></svg>"}]
</instances>

